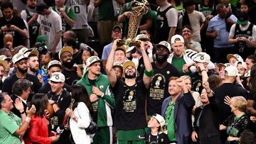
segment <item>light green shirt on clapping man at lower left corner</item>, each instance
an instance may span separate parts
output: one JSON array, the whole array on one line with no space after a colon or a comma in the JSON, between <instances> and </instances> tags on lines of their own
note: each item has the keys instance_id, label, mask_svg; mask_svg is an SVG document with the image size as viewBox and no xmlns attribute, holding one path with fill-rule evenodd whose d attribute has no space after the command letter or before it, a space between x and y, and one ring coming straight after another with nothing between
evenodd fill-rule
<instances>
[{"instance_id":1,"label":"light green shirt on clapping man at lower left corner","mask_svg":"<svg viewBox=\"0 0 256 144\"><path fill-rule=\"evenodd\" d=\"M14 113L9 114L0 109L0 143L1 144L17 144L21 143L19 135L14 134L21 125L21 118Z\"/></svg>"}]
</instances>

